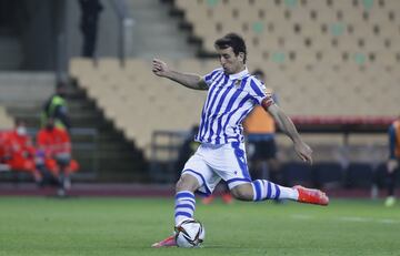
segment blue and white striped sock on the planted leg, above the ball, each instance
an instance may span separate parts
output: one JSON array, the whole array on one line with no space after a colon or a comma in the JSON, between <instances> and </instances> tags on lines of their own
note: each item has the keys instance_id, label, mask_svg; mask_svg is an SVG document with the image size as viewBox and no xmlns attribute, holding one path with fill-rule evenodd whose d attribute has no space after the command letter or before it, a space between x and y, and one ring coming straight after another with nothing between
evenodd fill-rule
<instances>
[{"instance_id":1,"label":"blue and white striped sock on the planted leg, above the ball","mask_svg":"<svg viewBox=\"0 0 400 256\"><path fill-rule=\"evenodd\" d=\"M186 219L192 219L196 209L194 194L190 191L181 191L176 194L174 221L176 226Z\"/></svg>"}]
</instances>

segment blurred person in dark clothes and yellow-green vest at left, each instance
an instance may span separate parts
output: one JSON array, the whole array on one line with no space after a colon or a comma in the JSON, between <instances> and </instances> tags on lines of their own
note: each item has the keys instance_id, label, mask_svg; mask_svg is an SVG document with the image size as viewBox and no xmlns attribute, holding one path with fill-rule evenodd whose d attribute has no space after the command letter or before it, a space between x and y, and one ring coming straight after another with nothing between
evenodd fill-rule
<instances>
[{"instance_id":1,"label":"blurred person in dark clothes and yellow-green vest at left","mask_svg":"<svg viewBox=\"0 0 400 256\"><path fill-rule=\"evenodd\" d=\"M41 127L44 127L49 119L52 119L54 125L59 129L69 131L71 127L68 104L66 100L67 85L60 82L56 89L56 93L46 101L41 113Z\"/></svg>"}]
</instances>

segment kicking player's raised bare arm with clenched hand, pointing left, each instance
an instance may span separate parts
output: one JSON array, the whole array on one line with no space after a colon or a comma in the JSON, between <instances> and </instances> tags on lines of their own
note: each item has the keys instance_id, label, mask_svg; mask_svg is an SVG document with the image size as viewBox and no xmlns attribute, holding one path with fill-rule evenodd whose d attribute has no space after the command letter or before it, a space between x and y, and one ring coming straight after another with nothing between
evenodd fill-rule
<instances>
[{"instance_id":1,"label":"kicking player's raised bare arm with clenched hand, pointing left","mask_svg":"<svg viewBox=\"0 0 400 256\"><path fill-rule=\"evenodd\" d=\"M170 79L190 89L194 89L194 90L208 89L206 82L202 80L200 75L173 71L168 68L166 62L158 59L153 59L152 61L152 72L158 76Z\"/></svg>"}]
</instances>

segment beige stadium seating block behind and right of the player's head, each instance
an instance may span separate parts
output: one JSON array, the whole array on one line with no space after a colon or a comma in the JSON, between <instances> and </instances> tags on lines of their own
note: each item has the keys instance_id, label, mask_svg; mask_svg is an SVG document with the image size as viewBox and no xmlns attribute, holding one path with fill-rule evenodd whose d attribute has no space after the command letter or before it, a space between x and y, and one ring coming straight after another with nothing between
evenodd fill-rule
<instances>
[{"instance_id":1,"label":"beige stadium seating block behind and right of the player's head","mask_svg":"<svg viewBox=\"0 0 400 256\"><path fill-rule=\"evenodd\" d=\"M204 52L212 53L223 33L243 34L249 66L264 69L267 84L292 115L397 114L393 105L371 104L400 100L391 93L399 82L397 1L244 2L177 0L176 7Z\"/></svg>"}]
</instances>

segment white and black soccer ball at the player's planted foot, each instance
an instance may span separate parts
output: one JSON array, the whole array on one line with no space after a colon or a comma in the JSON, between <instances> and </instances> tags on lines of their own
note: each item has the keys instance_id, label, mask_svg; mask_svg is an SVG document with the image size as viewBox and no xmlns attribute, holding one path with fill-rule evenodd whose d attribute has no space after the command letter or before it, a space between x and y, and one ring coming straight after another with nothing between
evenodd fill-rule
<instances>
[{"instance_id":1,"label":"white and black soccer ball at the player's planted foot","mask_svg":"<svg viewBox=\"0 0 400 256\"><path fill-rule=\"evenodd\" d=\"M206 231L200 222L188 219L176 228L176 242L178 247L198 247L204 240Z\"/></svg>"}]
</instances>

